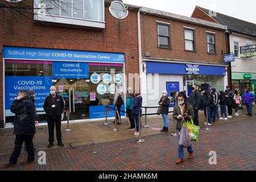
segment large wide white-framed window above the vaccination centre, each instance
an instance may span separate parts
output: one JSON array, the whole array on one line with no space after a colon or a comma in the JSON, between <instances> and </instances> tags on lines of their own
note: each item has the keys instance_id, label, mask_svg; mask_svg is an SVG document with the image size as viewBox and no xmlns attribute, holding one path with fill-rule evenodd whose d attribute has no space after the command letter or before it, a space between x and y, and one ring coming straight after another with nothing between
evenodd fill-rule
<instances>
[{"instance_id":1,"label":"large wide white-framed window above the vaccination centre","mask_svg":"<svg viewBox=\"0 0 256 182\"><path fill-rule=\"evenodd\" d=\"M104 21L104 0L35 0L38 14ZM48 8L48 9L47 9Z\"/></svg>"}]
</instances>

